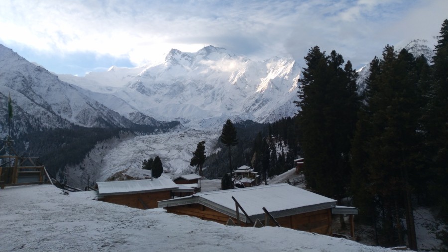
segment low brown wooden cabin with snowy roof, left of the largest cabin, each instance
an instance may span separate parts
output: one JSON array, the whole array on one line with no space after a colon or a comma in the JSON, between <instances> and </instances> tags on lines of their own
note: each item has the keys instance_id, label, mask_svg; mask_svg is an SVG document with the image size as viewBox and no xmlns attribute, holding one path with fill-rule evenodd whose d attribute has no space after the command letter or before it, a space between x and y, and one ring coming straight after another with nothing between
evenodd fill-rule
<instances>
[{"instance_id":1,"label":"low brown wooden cabin with snowy roof, left of the largest cabin","mask_svg":"<svg viewBox=\"0 0 448 252\"><path fill-rule=\"evenodd\" d=\"M194 189L181 188L171 179L141 179L97 182L98 199L128 207L156 208L157 201L171 199L175 193L191 195Z\"/></svg>"}]
</instances>

